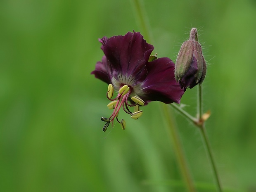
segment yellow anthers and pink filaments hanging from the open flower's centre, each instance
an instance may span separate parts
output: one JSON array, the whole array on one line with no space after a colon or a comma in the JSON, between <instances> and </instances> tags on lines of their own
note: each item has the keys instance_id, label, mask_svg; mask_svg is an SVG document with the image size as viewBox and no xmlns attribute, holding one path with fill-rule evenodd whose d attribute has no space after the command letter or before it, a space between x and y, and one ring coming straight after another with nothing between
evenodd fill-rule
<instances>
[{"instance_id":1,"label":"yellow anthers and pink filaments hanging from the open flower's centre","mask_svg":"<svg viewBox=\"0 0 256 192\"><path fill-rule=\"evenodd\" d=\"M112 99L114 95L114 86L112 84L109 84L108 90L107 90L107 98L111 102L107 105L107 107L109 109L114 109L114 111L109 118L106 118L106 117L101 118L102 121L106 122L102 129L103 131L107 130L107 127L111 122L113 127L114 119L116 119L116 121L121 124L122 129L126 128L126 122L123 119L121 121L119 121L118 119L118 115L121 107L123 108L123 111L129 114L132 119L138 119L142 115L142 110L140 110L139 106L143 106L145 102L142 99L140 99L140 97L137 97L137 96L132 96L130 98L131 92L132 92L132 88L129 85L123 85L122 87L119 88L119 92L116 98ZM133 103L129 101L129 98L133 101ZM131 107L134 108L133 112L130 111Z\"/></svg>"}]
</instances>

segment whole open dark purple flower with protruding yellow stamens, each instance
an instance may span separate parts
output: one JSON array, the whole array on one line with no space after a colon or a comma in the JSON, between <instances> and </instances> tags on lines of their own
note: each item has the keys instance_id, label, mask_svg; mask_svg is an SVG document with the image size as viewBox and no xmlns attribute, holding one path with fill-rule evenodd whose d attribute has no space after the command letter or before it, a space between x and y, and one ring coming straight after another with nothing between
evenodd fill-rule
<instances>
[{"instance_id":1,"label":"whole open dark purple flower with protruding yellow stamens","mask_svg":"<svg viewBox=\"0 0 256 192\"><path fill-rule=\"evenodd\" d=\"M103 37L99 41L104 56L91 74L109 84L107 98L111 102L107 106L114 109L109 118L101 118L106 122L103 131L111 122L113 126L114 119L125 128L125 121L118 119L121 108L132 119L138 119L142 115L140 106L150 101L180 102L184 91L175 81L175 64L167 57L150 57L154 47L140 33L128 32L125 36ZM117 96L113 99L115 90Z\"/></svg>"}]
</instances>

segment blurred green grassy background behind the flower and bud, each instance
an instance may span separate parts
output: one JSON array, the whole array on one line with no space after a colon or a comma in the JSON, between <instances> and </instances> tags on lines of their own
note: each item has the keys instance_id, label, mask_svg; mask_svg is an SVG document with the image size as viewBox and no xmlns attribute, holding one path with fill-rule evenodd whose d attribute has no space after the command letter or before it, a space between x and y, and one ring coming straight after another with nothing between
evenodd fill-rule
<instances>
[{"instance_id":1,"label":"blurred green grassy background behind the flower and bud","mask_svg":"<svg viewBox=\"0 0 256 192\"><path fill-rule=\"evenodd\" d=\"M206 122L225 191L256 191L256 1L145 0L154 53L175 60L192 27L208 71ZM129 0L0 1L0 191L185 191L159 102L106 133L98 38L141 31ZM142 31L141 31L142 32ZM143 32L142 32L143 35ZM181 102L196 113L197 89ZM199 192L215 191L199 130L175 113Z\"/></svg>"}]
</instances>

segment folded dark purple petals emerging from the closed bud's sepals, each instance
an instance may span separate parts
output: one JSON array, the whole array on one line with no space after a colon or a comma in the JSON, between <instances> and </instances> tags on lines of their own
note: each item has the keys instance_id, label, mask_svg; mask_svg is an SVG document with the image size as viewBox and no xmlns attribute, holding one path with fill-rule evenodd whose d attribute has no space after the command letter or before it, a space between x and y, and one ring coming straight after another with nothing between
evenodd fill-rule
<instances>
[{"instance_id":1,"label":"folded dark purple petals emerging from the closed bud's sepals","mask_svg":"<svg viewBox=\"0 0 256 192\"><path fill-rule=\"evenodd\" d=\"M189 69L187 70L186 74L181 78L179 81L180 87L186 89L187 87L193 88L197 85L195 74L197 74L197 59L194 56L192 62L190 64Z\"/></svg>"}]
</instances>

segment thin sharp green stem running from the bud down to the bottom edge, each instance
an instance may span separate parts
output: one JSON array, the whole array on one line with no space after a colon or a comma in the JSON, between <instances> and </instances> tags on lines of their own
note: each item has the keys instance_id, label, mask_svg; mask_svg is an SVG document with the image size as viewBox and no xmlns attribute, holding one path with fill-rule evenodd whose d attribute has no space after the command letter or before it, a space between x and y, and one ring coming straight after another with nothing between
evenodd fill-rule
<instances>
[{"instance_id":1,"label":"thin sharp green stem running from the bud down to the bottom edge","mask_svg":"<svg viewBox=\"0 0 256 192\"><path fill-rule=\"evenodd\" d=\"M213 170L213 175L214 175L214 178L215 178L216 183L217 183L218 191L222 192L222 189L221 189L221 186L220 186L220 178L218 176L217 167L216 167L216 164L215 164L214 159L213 159L213 152L212 152L211 145L210 145L209 139L207 137L205 126L204 126L204 121L205 120L202 118L202 111L203 111L203 107L202 107L203 104L202 103L203 103L202 86L201 86L201 84L199 84L199 86L198 86L198 102L197 102L198 123L196 125L199 127L199 129L201 131L201 135L203 137L206 152L207 152L207 154L209 156L209 159L210 159L211 167L212 167L212 170Z\"/></svg>"}]
</instances>

